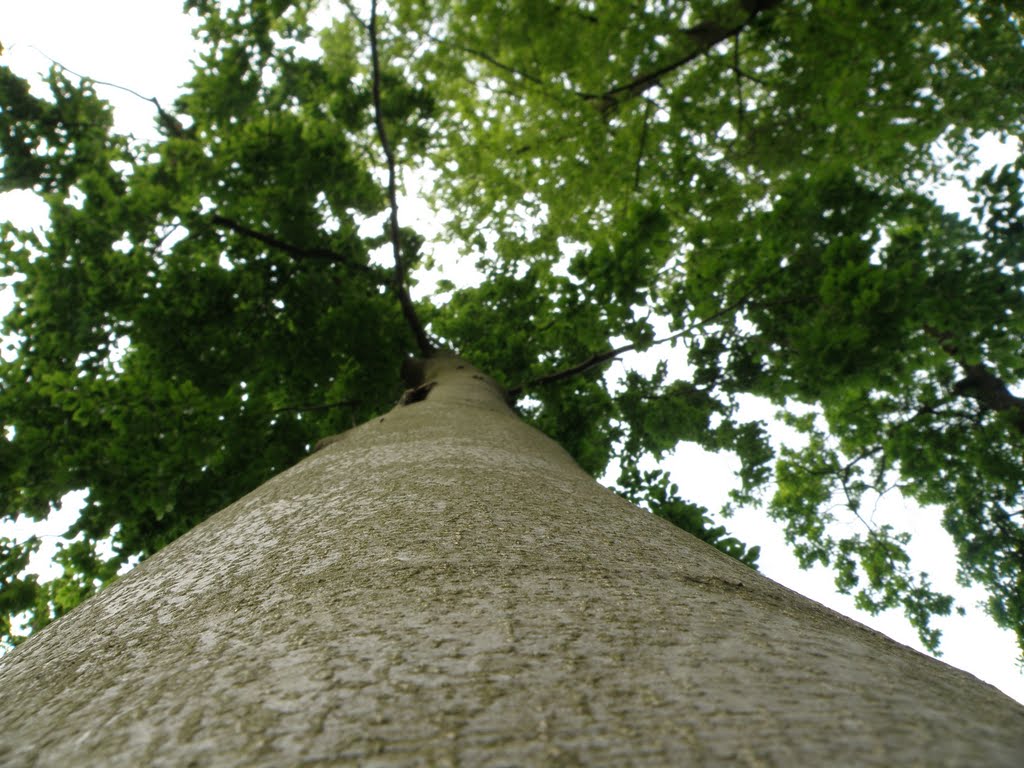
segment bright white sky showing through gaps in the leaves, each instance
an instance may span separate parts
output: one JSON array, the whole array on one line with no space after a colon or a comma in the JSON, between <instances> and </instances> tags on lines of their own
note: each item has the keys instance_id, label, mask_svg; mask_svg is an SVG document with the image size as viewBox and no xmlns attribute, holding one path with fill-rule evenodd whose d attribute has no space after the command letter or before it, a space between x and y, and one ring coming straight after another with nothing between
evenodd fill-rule
<instances>
[{"instance_id":1,"label":"bright white sky showing through gaps in the leaves","mask_svg":"<svg viewBox=\"0 0 1024 768\"><path fill-rule=\"evenodd\" d=\"M191 19L181 12L180 0L0 0L0 65L11 68L22 77L45 72L56 59L70 70L87 74L95 81L106 81L130 88L146 97L157 97L165 108L173 104L179 86L193 69ZM99 86L99 94L115 108L119 129L136 136L155 137L152 103L113 87ZM42 90L37 90L42 93ZM1006 160L1006 147L996 141L982 146L982 162ZM964 204L963 193L945 190L950 205ZM435 229L436 217L417 203L415 190L400 201L402 225L421 230ZM0 195L0 217L20 225L45 228L45 209L28 194ZM459 282L458 265L450 266L445 276ZM472 280L465 275L464 280ZM422 287L421 287L422 288ZM0 297L0 313L9 307L9 294ZM652 368L650 358L633 355L614 364L609 376L630 365L637 370ZM751 402L743 416L768 418L771 410ZM674 480L690 497L709 509L718 509L735 483L734 462L728 457L711 457L692 446L679 449L667 462ZM52 552L61 532L74 515L69 503L63 514L51 517L42 528L46 548ZM984 599L980 589L966 590L954 578L953 544L939 526L938 512L921 509L899 498L887 499L874 512L876 522L891 522L913 534L910 552L915 567L927 571L936 588L956 597L967 609L964 617L936 620L943 631L942 660L964 669L1007 694L1024 702L1024 674L1017 665L1018 649L1013 634L1000 630L980 608ZM899 611L870 616L853 605L853 599L838 595L833 574L822 566L801 570L783 542L781 529L759 510L740 510L727 520L727 527L748 544L762 548L761 571L784 586L850 615L895 640L923 650L916 633ZM16 528L16 529L15 529ZM0 534L24 539L29 528L20 523L0 525ZM44 556L41 561L45 561Z\"/></svg>"}]
</instances>

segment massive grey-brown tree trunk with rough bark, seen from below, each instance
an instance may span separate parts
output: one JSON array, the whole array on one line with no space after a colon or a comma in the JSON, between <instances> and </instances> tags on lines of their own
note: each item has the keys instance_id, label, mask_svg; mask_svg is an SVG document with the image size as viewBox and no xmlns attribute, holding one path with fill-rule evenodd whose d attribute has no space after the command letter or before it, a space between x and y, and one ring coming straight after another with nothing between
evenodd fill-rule
<instances>
[{"instance_id":1,"label":"massive grey-brown tree trunk with rough bark, seen from below","mask_svg":"<svg viewBox=\"0 0 1024 768\"><path fill-rule=\"evenodd\" d=\"M0 659L0 763L1021 765L996 689L630 506L458 359L414 373Z\"/></svg>"}]
</instances>

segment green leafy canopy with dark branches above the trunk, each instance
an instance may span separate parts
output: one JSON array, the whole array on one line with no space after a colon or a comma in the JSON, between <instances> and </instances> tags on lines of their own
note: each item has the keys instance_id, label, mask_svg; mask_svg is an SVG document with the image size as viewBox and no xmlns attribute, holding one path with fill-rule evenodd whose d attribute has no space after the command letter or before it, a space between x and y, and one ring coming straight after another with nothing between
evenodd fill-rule
<instances>
[{"instance_id":1,"label":"green leafy canopy with dark branches above the trunk","mask_svg":"<svg viewBox=\"0 0 1024 768\"><path fill-rule=\"evenodd\" d=\"M735 455L733 504L931 647L952 600L863 512L894 487L936 505L961 579L1024 647L1024 165L968 173L980 136L1021 133L1011 4L185 5L203 53L154 103L159 141L119 135L59 66L45 95L0 69L0 189L50 211L44 237L2 232L0 513L88 490L60 579L26 575L37 540L0 543L8 641L12 617L45 625L388 408L401 359L435 344L753 565L641 468L681 441ZM443 244L391 223L391 164L429 173ZM928 194L951 177L969 220ZM455 254L479 283L409 300ZM631 350L663 362L642 375ZM744 421L750 395L799 439Z\"/></svg>"}]
</instances>

